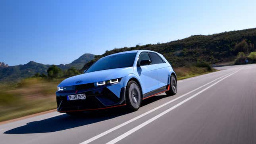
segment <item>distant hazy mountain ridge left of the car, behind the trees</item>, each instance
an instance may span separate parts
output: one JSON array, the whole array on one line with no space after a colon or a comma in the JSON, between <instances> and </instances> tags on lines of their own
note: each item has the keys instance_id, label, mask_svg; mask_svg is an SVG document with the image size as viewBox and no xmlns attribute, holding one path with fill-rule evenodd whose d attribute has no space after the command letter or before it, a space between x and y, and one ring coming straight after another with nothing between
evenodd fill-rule
<instances>
[{"instance_id":1,"label":"distant hazy mountain ridge left of the car, behind the trees","mask_svg":"<svg viewBox=\"0 0 256 144\"><path fill-rule=\"evenodd\" d=\"M85 63L94 59L93 54L83 54L77 60L72 61L69 64L57 65L61 69L68 69L70 67L75 67L81 69ZM45 65L42 63L37 63L35 61L29 61L24 65L15 65L8 67L0 67L0 82L17 82L23 78L31 77L36 73L47 72L48 67L51 65Z\"/></svg>"}]
</instances>

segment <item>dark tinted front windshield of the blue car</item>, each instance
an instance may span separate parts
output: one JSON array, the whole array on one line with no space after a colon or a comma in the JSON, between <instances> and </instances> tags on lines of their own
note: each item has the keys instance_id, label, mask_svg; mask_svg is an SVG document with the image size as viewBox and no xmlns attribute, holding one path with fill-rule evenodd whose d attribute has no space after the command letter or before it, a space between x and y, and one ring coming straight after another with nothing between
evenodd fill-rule
<instances>
[{"instance_id":1,"label":"dark tinted front windshield of the blue car","mask_svg":"<svg viewBox=\"0 0 256 144\"><path fill-rule=\"evenodd\" d=\"M89 69L87 69L86 73L93 71L101 71L104 69L116 69L121 67L132 67L135 56L137 53L127 53L127 54L117 54L114 56L107 56L105 58L101 58L96 61Z\"/></svg>"}]
</instances>

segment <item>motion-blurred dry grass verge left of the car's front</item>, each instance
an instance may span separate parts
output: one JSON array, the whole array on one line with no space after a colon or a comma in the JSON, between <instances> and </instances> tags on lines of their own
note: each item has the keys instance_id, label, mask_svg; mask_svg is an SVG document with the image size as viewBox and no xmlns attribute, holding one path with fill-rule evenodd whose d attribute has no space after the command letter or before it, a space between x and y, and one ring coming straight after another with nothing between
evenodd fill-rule
<instances>
[{"instance_id":1,"label":"motion-blurred dry grass verge left of the car's front","mask_svg":"<svg viewBox=\"0 0 256 144\"><path fill-rule=\"evenodd\" d=\"M56 108L55 91L60 81L31 78L17 85L0 85L0 121Z\"/></svg>"}]
</instances>

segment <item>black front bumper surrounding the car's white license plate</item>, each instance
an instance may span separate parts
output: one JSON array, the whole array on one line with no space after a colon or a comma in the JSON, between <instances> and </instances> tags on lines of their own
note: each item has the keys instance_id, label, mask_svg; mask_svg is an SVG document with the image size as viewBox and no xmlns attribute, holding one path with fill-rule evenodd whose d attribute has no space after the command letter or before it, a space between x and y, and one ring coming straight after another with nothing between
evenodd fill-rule
<instances>
[{"instance_id":1,"label":"black front bumper surrounding the car's white license plate","mask_svg":"<svg viewBox=\"0 0 256 144\"><path fill-rule=\"evenodd\" d=\"M85 100L67 100L68 95L85 94ZM108 86L90 88L88 90L57 91L57 111L88 111L113 108L125 105L125 87L121 88L120 95L116 96Z\"/></svg>"}]
</instances>

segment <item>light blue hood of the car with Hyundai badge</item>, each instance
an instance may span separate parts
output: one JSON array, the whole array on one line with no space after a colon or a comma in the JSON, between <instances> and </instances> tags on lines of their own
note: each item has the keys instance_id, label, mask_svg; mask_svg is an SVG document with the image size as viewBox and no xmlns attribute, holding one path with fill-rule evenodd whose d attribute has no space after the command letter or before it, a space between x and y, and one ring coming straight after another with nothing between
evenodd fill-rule
<instances>
[{"instance_id":1,"label":"light blue hood of the car with Hyundai badge","mask_svg":"<svg viewBox=\"0 0 256 144\"><path fill-rule=\"evenodd\" d=\"M96 83L100 81L108 81L111 79L117 79L125 77L133 73L133 67L117 68L117 69L106 69L102 71L94 71L90 73L83 73L63 80L58 87L73 86L77 84ZM80 81L80 83L76 83Z\"/></svg>"}]
</instances>

